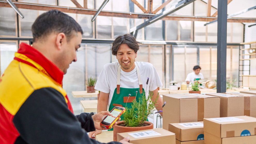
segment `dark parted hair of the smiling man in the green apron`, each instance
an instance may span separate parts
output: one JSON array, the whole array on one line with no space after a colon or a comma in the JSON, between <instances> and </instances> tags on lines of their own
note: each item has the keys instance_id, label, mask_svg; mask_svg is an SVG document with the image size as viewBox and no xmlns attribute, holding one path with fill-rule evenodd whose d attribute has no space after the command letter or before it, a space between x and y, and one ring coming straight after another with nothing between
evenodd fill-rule
<instances>
[{"instance_id":1,"label":"dark parted hair of the smiling man in the green apron","mask_svg":"<svg viewBox=\"0 0 256 144\"><path fill-rule=\"evenodd\" d=\"M134 50L135 53L139 50L139 45L134 36L130 34L125 34L123 36L118 36L112 45L112 54L116 55L117 50L119 49L121 44L127 44L130 49Z\"/></svg>"}]
</instances>

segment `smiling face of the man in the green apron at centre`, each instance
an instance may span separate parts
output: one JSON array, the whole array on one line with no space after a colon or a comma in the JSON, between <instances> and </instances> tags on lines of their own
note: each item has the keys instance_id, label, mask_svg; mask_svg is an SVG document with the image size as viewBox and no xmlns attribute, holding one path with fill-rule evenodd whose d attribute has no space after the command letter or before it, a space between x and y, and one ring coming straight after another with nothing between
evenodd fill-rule
<instances>
[{"instance_id":1,"label":"smiling face of the man in the green apron at centre","mask_svg":"<svg viewBox=\"0 0 256 144\"><path fill-rule=\"evenodd\" d=\"M137 53L130 49L127 44L121 44L117 50L116 59L121 65L121 69L125 72L130 72L135 68L135 58Z\"/></svg>"}]
</instances>

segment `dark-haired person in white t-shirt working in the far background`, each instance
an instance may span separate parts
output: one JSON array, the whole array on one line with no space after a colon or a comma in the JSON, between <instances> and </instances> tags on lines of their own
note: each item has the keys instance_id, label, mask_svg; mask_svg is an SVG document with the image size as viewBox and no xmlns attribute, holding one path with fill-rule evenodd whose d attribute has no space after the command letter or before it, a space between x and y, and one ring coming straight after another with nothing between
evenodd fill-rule
<instances>
[{"instance_id":1,"label":"dark-haired person in white t-shirt working in the far background","mask_svg":"<svg viewBox=\"0 0 256 144\"><path fill-rule=\"evenodd\" d=\"M201 67L194 66L193 71L187 75L186 82L189 84L190 82L198 81L199 79L204 79L203 74L200 73Z\"/></svg>"}]
</instances>

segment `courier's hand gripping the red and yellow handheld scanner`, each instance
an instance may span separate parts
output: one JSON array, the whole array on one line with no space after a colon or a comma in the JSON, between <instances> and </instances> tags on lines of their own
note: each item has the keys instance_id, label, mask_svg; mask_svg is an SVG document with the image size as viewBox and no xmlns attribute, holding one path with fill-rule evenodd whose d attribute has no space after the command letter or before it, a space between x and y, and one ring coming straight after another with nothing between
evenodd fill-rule
<instances>
[{"instance_id":1,"label":"courier's hand gripping the red and yellow handheld scanner","mask_svg":"<svg viewBox=\"0 0 256 144\"><path fill-rule=\"evenodd\" d=\"M92 116L95 129L97 129L97 130L107 130L107 129L104 129L103 127L100 126L101 121L107 115L112 116L112 114L109 111L101 111L101 112ZM121 118L119 118L117 121L120 121L120 119ZM116 125L116 124L117 124L117 122L115 122L114 125ZM110 127L109 129L112 129L112 127Z\"/></svg>"}]
</instances>

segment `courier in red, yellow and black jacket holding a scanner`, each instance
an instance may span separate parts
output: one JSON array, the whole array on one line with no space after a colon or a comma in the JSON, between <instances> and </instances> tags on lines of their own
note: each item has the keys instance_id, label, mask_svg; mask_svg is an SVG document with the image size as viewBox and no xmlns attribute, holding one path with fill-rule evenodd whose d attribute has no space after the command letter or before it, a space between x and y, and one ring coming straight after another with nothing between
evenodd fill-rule
<instances>
[{"instance_id":1,"label":"courier in red, yellow and black jacket holding a scanner","mask_svg":"<svg viewBox=\"0 0 256 144\"><path fill-rule=\"evenodd\" d=\"M100 143L87 132L102 130L100 122L112 114L75 116L62 88L63 75L77 61L83 34L80 25L69 15L51 10L35 20L32 33L33 47L21 43L0 78L0 143Z\"/></svg>"}]
</instances>

